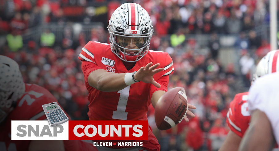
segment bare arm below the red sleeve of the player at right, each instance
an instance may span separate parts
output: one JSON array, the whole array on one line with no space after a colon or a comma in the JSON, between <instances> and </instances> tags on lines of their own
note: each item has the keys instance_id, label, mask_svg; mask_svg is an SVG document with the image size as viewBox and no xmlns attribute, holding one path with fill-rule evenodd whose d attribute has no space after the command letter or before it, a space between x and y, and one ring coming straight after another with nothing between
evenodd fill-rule
<instances>
[{"instance_id":1,"label":"bare arm below the red sleeve of the player at right","mask_svg":"<svg viewBox=\"0 0 279 151\"><path fill-rule=\"evenodd\" d=\"M223 145L218 151L235 151L238 149L241 137L235 134L233 131L229 131L227 138L225 139Z\"/></svg>"}]
</instances>

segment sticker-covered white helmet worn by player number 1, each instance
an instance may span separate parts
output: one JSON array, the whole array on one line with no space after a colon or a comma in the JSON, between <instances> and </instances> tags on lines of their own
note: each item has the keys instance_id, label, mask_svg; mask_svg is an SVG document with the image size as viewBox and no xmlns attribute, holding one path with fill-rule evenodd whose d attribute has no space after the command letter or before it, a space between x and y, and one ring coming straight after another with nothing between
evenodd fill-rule
<instances>
[{"instance_id":1,"label":"sticker-covered white helmet worn by player number 1","mask_svg":"<svg viewBox=\"0 0 279 151\"><path fill-rule=\"evenodd\" d=\"M148 53L153 34L152 21L144 8L124 3L111 15L110 48L121 60L136 62Z\"/></svg>"}]
</instances>

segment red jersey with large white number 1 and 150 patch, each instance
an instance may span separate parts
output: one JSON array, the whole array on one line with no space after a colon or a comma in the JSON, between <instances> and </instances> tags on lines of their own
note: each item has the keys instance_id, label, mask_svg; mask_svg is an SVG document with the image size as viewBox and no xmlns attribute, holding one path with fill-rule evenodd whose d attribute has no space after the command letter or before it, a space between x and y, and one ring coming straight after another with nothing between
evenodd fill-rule
<instances>
[{"instance_id":1,"label":"red jersey with large white number 1 and 150 patch","mask_svg":"<svg viewBox=\"0 0 279 151\"><path fill-rule=\"evenodd\" d=\"M152 94L158 90L168 90L167 75L174 70L173 61L168 53L152 50L137 61L133 68L127 70L123 61L111 51L110 45L99 42L87 43L78 58L82 61L85 85L89 92L90 120L147 120L146 113ZM160 63L158 68L164 67L164 71L153 76L154 80L161 84L161 88L140 81L118 92L102 92L91 87L87 81L89 74L97 69L115 73L134 72L150 62Z\"/></svg>"}]
</instances>

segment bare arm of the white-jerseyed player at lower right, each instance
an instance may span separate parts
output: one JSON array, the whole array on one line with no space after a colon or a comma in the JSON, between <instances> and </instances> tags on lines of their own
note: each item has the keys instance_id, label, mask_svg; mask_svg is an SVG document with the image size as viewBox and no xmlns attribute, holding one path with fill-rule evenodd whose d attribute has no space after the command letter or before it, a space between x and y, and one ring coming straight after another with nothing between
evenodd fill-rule
<instances>
[{"instance_id":1,"label":"bare arm of the white-jerseyed player at lower right","mask_svg":"<svg viewBox=\"0 0 279 151\"><path fill-rule=\"evenodd\" d=\"M272 126L266 114L255 110L251 115L250 126L240 143L239 151L272 150L275 145Z\"/></svg>"}]
</instances>

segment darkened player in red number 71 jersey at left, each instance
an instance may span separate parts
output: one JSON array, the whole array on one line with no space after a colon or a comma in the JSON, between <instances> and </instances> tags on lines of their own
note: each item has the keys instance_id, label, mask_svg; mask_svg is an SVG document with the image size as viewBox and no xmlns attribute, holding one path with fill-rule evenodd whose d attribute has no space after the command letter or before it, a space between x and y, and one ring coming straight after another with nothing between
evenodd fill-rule
<instances>
[{"instance_id":1,"label":"darkened player in red number 71 jersey at left","mask_svg":"<svg viewBox=\"0 0 279 151\"><path fill-rule=\"evenodd\" d=\"M13 59L0 55L0 68L1 151L97 150L92 141L90 143L79 140L11 140L12 120L46 120L42 105L57 100L45 88L36 84L25 84L19 65Z\"/></svg>"}]
</instances>

